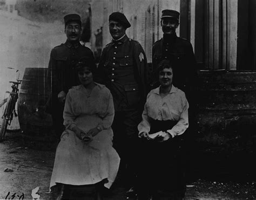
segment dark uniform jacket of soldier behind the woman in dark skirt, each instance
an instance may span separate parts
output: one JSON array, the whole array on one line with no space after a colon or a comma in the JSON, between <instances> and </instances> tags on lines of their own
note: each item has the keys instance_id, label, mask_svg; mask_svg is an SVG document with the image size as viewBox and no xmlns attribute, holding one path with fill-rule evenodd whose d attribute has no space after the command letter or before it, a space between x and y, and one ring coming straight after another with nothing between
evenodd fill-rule
<instances>
[{"instance_id":1,"label":"dark uniform jacket of soldier behind the woman in dark skirt","mask_svg":"<svg viewBox=\"0 0 256 200\"><path fill-rule=\"evenodd\" d=\"M161 60L170 60L173 66L173 85L187 94L197 81L196 59L193 47L188 40L169 35L161 38L152 47L151 87L159 86L157 65Z\"/></svg>"}]
</instances>

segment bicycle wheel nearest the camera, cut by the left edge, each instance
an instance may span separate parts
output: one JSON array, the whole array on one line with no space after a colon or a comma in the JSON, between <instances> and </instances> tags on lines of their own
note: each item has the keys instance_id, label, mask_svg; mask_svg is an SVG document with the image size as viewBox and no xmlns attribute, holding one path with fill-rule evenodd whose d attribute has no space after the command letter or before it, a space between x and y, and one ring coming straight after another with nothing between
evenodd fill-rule
<instances>
[{"instance_id":1,"label":"bicycle wheel nearest the camera, cut by the left edge","mask_svg":"<svg viewBox=\"0 0 256 200\"><path fill-rule=\"evenodd\" d=\"M3 115L3 121L2 121L2 127L1 127L1 133L0 133L0 142L2 142L4 140L4 136L6 133L6 129L8 126L8 121L9 119L11 119L11 113L12 113L12 107L13 107L13 98L11 96L11 98L9 99L9 101L7 102L5 111L4 111L4 115Z\"/></svg>"}]
</instances>

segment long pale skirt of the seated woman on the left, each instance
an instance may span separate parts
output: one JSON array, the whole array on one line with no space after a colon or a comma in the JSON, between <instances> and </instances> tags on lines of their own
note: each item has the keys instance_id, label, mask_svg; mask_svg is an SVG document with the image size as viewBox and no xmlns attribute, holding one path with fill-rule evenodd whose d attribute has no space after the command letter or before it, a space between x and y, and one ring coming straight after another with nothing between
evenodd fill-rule
<instances>
[{"instance_id":1,"label":"long pale skirt of the seated woman on the left","mask_svg":"<svg viewBox=\"0 0 256 200\"><path fill-rule=\"evenodd\" d=\"M57 183L90 185L106 180L110 188L116 178L120 158L112 147L112 129L102 130L85 143L66 129L58 144L50 188Z\"/></svg>"}]
</instances>

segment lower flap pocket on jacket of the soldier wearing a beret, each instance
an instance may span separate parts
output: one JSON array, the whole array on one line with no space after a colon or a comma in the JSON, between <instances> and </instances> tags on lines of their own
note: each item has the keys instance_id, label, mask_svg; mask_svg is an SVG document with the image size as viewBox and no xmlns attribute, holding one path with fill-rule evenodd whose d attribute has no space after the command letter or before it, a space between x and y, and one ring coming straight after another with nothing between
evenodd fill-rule
<instances>
[{"instance_id":1,"label":"lower flap pocket on jacket of the soldier wearing a beret","mask_svg":"<svg viewBox=\"0 0 256 200\"><path fill-rule=\"evenodd\" d=\"M125 85L124 89L125 89L127 104L130 107L138 106L140 101L138 85Z\"/></svg>"}]
</instances>

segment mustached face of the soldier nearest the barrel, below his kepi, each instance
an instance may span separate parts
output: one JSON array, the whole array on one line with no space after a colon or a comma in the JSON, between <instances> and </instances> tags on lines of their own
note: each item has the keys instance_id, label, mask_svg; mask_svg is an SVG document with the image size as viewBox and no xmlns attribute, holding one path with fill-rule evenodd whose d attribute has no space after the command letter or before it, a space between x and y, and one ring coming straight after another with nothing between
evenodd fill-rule
<instances>
[{"instance_id":1,"label":"mustached face of the soldier nearest the barrel, below his kepi","mask_svg":"<svg viewBox=\"0 0 256 200\"><path fill-rule=\"evenodd\" d=\"M66 37L69 42L77 42L82 33L82 27L78 22L68 22L65 27Z\"/></svg>"}]
</instances>

